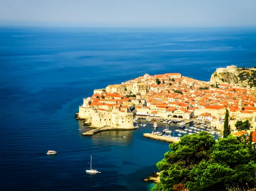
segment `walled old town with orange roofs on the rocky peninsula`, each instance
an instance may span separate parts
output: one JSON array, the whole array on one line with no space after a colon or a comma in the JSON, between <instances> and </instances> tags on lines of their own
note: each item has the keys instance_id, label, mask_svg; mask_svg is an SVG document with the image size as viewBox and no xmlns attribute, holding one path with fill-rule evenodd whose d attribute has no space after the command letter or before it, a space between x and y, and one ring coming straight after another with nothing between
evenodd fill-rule
<instances>
[{"instance_id":1,"label":"walled old town with orange roofs on the rocky peninsula","mask_svg":"<svg viewBox=\"0 0 256 191\"><path fill-rule=\"evenodd\" d=\"M238 83L239 70L241 68L236 66L217 68L209 82L184 77L180 73L145 74L121 84L95 89L92 97L84 98L76 117L94 128L134 129L133 118L137 114L207 121L222 131L227 108L231 128L236 129L238 120L249 120L250 130L255 130L256 88ZM220 78L224 74L226 78Z\"/></svg>"}]
</instances>

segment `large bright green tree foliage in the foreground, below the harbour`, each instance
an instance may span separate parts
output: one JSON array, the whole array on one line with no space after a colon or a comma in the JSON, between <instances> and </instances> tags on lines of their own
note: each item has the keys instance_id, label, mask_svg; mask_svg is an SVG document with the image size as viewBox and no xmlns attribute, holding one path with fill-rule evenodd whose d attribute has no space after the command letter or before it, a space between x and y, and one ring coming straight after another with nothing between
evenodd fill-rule
<instances>
[{"instance_id":1,"label":"large bright green tree foliage in the foreground, below the harbour","mask_svg":"<svg viewBox=\"0 0 256 191\"><path fill-rule=\"evenodd\" d=\"M229 135L215 141L211 134L186 135L157 162L162 171L152 191L173 191L182 184L189 191L221 191L234 182L256 184L255 144Z\"/></svg>"}]
</instances>

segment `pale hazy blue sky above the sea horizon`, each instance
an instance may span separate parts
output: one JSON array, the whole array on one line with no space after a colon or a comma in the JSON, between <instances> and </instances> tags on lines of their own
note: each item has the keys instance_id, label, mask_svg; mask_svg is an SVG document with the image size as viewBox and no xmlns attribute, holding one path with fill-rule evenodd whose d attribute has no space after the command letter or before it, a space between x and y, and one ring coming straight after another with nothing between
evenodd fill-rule
<instances>
[{"instance_id":1,"label":"pale hazy blue sky above the sea horizon","mask_svg":"<svg viewBox=\"0 0 256 191\"><path fill-rule=\"evenodd\" d=\"M256 0L0 0L0 25L256 26Z\"/></svg>"}]
</instances>

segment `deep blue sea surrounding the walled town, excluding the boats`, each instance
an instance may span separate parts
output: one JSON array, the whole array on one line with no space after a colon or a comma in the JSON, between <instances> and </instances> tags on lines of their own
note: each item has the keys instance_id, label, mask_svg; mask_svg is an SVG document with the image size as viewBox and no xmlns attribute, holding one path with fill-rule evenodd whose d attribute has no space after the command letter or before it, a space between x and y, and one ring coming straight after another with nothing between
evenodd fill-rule
<instances>
[{"instance_id":1,"label":"deep blue sea surrounding the walled town, excluding the boats","mask_svg":"<svg viewBox=\"0 0 256 191\"><path fill-rule=\"evenodd\" d=\"M1 27L0 190L150 190L141 179L157 171L169 144L142 137L151 123L81 136L87 127L74 115L83 97L146 73L208 81L217 67L255 60L256 30L249 28ZM58 153L48 156L49 149ZM90 155L101 174L86 174Z\"/></svg>"}]
</instances>

